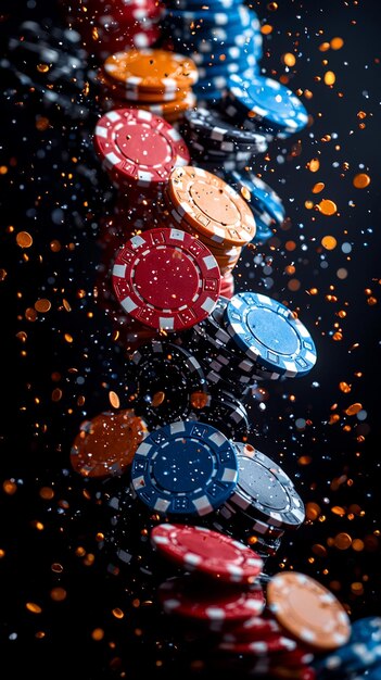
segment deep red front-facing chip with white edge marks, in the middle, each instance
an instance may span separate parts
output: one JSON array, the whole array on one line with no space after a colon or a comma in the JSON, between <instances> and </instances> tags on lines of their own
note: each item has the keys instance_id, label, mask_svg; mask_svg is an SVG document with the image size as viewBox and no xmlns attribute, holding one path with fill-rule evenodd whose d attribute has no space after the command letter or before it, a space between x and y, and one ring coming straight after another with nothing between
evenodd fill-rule
<instances>
[{"instance_id":1,"label":"deep red front-facing chip with white edge marks, in the middle","mask_svg":"<svg viewBox=\"0 0 381 680\"><path fill-rule=\"evenodd\" d=\"M149 229L129 239L113 266L124 311L156 330L180 331L206 318L219 295L215 257L180 229Z\"/></svg>"}]
</instances>

